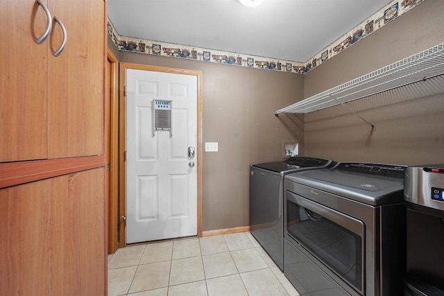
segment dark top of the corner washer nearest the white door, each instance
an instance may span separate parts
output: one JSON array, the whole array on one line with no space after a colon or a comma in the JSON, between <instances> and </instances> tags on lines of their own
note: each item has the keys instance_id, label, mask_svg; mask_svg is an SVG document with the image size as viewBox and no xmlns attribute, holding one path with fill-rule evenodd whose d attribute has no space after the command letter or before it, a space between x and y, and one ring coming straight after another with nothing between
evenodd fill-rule
<instances>
[{"instance_id":1,"label":"dark top of the corner washer nearest the white door","mask_svg":"<svg viewBox=\"0 0 444 296\"><path fill-rule=\"evenodd\" d=\"M290 157L284 162L264 162L262 164L253 164L257 168L264 168L268 171L276 173L284 173L287 171L302 171L305 168L314 167L330 167L336 162L330 159L314 158L314 157Z\"/></svg>"}]
</instances>

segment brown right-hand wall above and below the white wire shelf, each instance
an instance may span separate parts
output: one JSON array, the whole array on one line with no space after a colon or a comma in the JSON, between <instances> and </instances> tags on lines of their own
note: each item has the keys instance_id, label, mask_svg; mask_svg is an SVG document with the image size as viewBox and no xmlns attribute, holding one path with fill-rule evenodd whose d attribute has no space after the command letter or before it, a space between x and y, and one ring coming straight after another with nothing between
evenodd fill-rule
<instances>
[{"instance_id":1,"label":"brown right-hand wall above and below the white wire shelf","mask_svg":"<svg viewBox=\"0 0 444 296\"><path fill-rule=\"evenodd\" d=\"M307 73L305 97L442 43L443 15L443 0L421 3ZM444 162L442 77L348 106L376 131L342 106L305 114L305 155L407 165Z\"/></svg>"}]
</instances>

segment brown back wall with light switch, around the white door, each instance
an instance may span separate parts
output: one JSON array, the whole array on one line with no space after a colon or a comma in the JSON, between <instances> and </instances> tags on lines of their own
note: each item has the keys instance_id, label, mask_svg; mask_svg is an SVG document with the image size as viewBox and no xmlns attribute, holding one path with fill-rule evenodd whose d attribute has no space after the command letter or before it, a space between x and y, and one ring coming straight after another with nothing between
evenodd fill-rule
<instances>
[{"instance_id":1,"label":"brown back wall with light switch, around the white door","mask_svg":"<svg viewBox=\"0 0 444 296\"><path fill-rule=\"evenodd\" d=\"M302 99L303 76L125 51L118 57L203 72L203 141L219 142L218 153L203 152L203 231L249 225L250 164L282 160L282 140L303 140L297 116L274 116Z\"/></svg>"}]
</instances>

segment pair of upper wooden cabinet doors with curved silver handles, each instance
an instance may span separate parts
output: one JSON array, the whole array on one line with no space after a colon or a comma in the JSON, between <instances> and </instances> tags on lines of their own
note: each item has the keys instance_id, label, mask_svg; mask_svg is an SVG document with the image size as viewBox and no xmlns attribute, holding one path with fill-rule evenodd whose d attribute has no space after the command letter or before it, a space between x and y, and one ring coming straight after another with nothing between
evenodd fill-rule
<instances>
[{"instance_id":1,"label":"pair of upper wooden cabinet doors with curved silver handles","mask_svg":"<svg viewBox=\"0 0 444 296\"><path fill-rule=\"evenodd\" d=\"M37 1L6 1L0 11L0 162L103 154L105 2L42 4L52 28L41 44L34 39L48 17Z\"/></svg>"}]
</instances>

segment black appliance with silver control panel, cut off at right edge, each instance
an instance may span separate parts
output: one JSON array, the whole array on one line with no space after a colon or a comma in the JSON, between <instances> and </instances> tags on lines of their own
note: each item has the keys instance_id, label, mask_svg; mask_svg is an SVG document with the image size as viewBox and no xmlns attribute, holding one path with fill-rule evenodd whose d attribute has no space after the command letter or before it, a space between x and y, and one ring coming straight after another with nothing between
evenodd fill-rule
<instances>
[{"instance_id":1,"label":"black appliance with silver control panel, cut off at right edge","mask_svg":"<svg viewBox=\"0 0 444 296\"><path fill-rule=\"evenodd\" d=\"M404 295L444 295L444 164L409 166L404 175L407 276Z\"/></svg>"}]
</instances>

